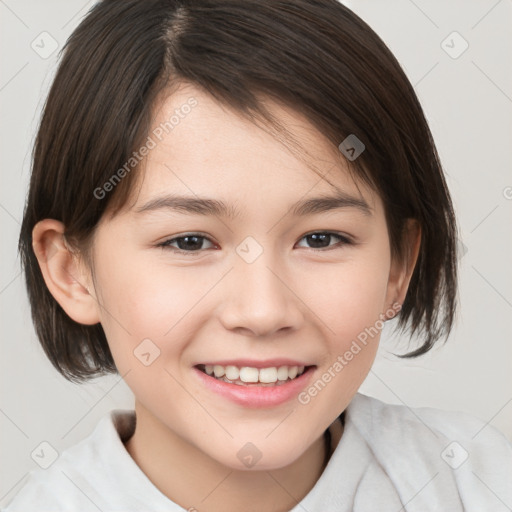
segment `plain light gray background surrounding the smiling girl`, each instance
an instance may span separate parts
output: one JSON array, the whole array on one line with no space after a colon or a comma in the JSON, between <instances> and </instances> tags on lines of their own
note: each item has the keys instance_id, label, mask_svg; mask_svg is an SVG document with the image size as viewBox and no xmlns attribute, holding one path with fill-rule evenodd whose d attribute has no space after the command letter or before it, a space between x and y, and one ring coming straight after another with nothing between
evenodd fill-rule
<instances>
[{"instance_id":1,"label":"plain light gray background surrounding the smiling girl","mask_svg":"<svg viewBox=\"0 0 512 512\"><path fill-rule=\"evenodd\" d=\"M60 453L111 409L133 407L118 376L77 386L53 369L34 334L16 254L30 151L57 57L41 58L31 43L46 31L60 49L93 3L0 0L1 503L36 467L31 453L41 442ZM460 315L447 344L400 361L390 350L403 345L391 343L385 329L361 391L409 407L465 411L512 440L512 2L345 3L383 38L415 86L467 250ZM469 44L458 58L441 45L453 31ZM455 37L445 43L452 53L462 48Z\"/></svg>"}]
</instances>

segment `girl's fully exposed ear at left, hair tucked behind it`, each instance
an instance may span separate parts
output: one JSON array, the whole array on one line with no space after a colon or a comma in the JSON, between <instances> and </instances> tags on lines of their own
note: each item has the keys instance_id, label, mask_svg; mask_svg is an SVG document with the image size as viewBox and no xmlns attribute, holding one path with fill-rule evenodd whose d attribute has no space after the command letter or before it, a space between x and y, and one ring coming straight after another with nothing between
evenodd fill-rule
<instances>
[{"instance_id":1,"label":"girl's fully exposed ear at left, hair tucked behind it","mask_svg":"<svg viewBox=\"0 0 512 512\"><path fill-rule=\"evenodd\" d=\"M100 321L90 272L67 244L65 226L54 219L38 222L32 230L32 248L48 290L75 322L94 325Z\"/></svg>"}]
</instances>

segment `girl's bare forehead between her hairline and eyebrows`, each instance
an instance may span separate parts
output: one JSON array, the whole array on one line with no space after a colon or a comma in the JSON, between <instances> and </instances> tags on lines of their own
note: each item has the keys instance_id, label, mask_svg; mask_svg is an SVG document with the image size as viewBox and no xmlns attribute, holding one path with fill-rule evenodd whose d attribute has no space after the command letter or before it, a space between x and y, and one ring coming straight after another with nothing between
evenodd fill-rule
<instances>
[{"instance_id":1,"label":"girl's bare forehead between her hairline and eyebrows","mask_svg":"<svg viewBox=\"0 0 512 512\"><path fill-rule=\"evenodd\" d=\"M306 205L305 200L319 196L338 196L356 208L359 203L361 213L365 205L368 214L378 209L379 198L354 181L339 150L312 124L273 101L266 100L265 106L296 145L193 85L161 99L154 108L151 149L143 161L143 180L131 210L144 210L151 200L168 194L217 198L222 213L233 218L243 218L251 207L296 204L301 199L302 211L307 213L314 205ZM210 206L215 210L219 205Z\"/></svg>"}]
</instances>

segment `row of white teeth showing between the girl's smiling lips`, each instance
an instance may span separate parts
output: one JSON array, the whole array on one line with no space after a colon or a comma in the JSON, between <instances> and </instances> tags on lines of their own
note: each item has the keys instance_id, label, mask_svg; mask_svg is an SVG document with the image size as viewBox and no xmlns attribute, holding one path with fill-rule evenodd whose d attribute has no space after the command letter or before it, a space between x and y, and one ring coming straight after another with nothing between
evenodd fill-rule
<instances>
[{"instance_id":1,"label":"row of white teeth showing between the girl's smiling lips","mask_svg":"<svg viewBox=\"0 0 512 512\"><path fill-rule=\"evenodd\" d=\"M278 387L299 378L311 369L316 368L316 366L282 365L255 368L251 366L198 364L195 368L209 377L228 384L249 387Z\"/></svg>"}]
</instances>

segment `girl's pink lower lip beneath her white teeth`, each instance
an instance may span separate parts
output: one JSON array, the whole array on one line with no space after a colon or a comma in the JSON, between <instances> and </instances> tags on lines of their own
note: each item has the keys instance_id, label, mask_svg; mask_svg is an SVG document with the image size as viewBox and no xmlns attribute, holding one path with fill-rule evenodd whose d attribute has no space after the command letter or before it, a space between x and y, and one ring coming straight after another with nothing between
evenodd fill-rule
<instances>
[{"instance_id":1,"label":"girl's pink lower lip beneath her white teeth","mask_svg":"<svg viewBox=\"0 0 512 512\"><path fill-rule=\"evenodd\" d=\"M288 402L306 387L313 376L315 366L310 366L300 377L279 386L244 386L230 384L207 375L199 368L192 368L204 385L233 402L252 408L268 408Z\"/></svg>"}]
</instances>

